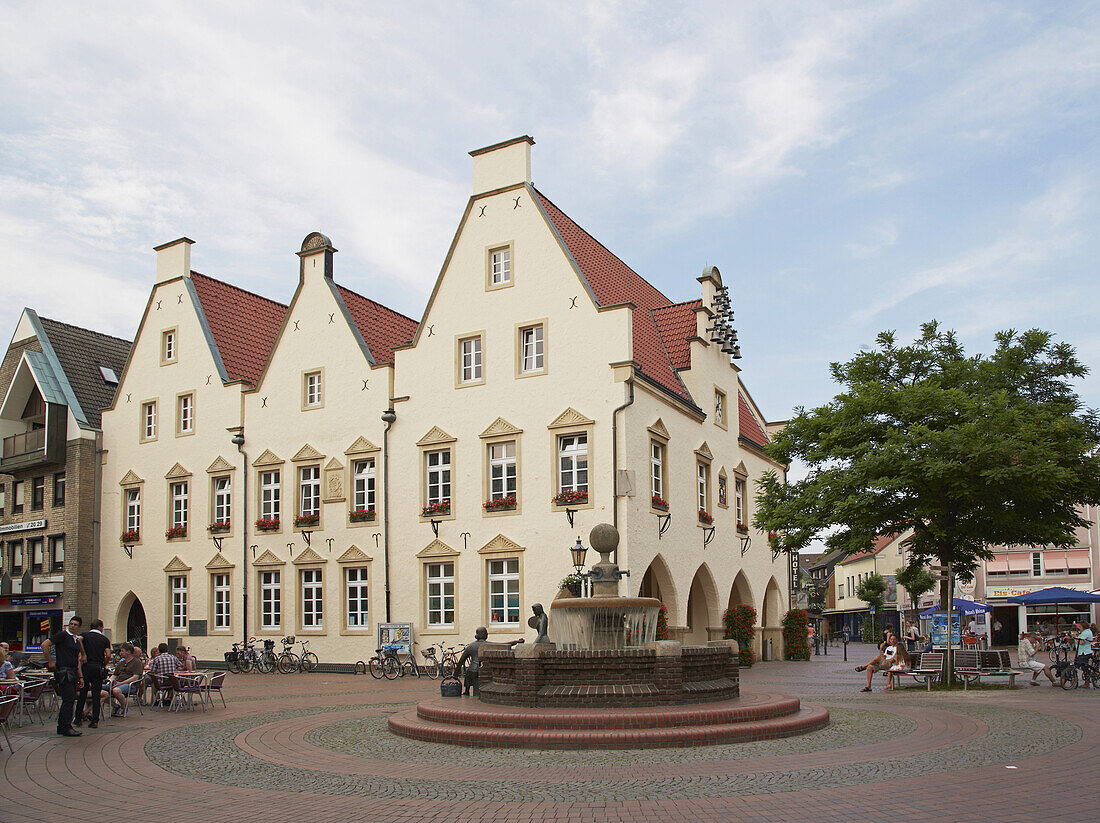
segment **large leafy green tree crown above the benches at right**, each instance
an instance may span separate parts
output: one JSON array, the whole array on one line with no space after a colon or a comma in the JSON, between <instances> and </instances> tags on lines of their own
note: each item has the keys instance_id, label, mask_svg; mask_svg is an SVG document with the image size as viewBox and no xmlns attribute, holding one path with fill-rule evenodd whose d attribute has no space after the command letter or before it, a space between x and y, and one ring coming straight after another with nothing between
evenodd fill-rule
<instances>
[{"instance_id":1,"label":"large leafy green tree crown above the benches at right","mask_svg":"<svg viewBox=\"0 0 1100 823\"><path fill-rule=\"evenodd\" d=\"M913 562L966 580L991 546L1072 545L1078 506L1100 503L1100 421L1072 387L1088 370L1048 332L1002 331L991 354L967 355L933 321L911 345L883 332L831 369L842 393L798 409L768 447L809 468L761 479L754 525L781 550L828 534L862 551L913 529Z\"/></svg>"}]
</instances>

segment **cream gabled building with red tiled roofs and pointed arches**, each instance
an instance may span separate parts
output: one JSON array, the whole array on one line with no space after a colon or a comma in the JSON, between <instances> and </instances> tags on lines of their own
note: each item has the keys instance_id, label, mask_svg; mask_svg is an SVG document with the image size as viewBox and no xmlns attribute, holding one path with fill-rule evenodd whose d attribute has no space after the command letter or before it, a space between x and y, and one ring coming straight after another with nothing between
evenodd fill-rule
<instances>
[{"instance_id":1,"label":"cream gabled building with red tiled roofs and pointed arches","mask_svg":"<svg viewBox=\"0 0 1100 823\"><path fill-rule=\"evenodd\" d=\"M796 569L748 524L784 467L722 274L667 298L534 187L532 143L471 153L419 321L340 285L317 232L288 306L193 272L187 239L157 249L103 415L117 637L211 659L296 635L322 662L365 659L381 624L421 646L517 637L606 522L623 593L660 597L673 636L721 637L748 603L758 652L781 654Z\"/></svg>"}]
</instances>

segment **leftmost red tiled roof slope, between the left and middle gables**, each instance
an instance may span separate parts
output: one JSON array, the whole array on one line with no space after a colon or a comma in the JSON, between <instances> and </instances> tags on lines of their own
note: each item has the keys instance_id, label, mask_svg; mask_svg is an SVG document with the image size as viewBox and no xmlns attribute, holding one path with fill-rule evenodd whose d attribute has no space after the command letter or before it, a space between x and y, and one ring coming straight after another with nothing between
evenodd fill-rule
<instances>
[{"instance_id":1,"label":"leftmost red tiled roof slope, between the left and middle gables","mask_svg":"<svg viewBox=\"0 0 1100 823\"><path fill-rule=\"evenodd\" d=\"M207 326L231 381L256 385L275 344L286 306L191 272Z\"/></svg>"}]
</instances>

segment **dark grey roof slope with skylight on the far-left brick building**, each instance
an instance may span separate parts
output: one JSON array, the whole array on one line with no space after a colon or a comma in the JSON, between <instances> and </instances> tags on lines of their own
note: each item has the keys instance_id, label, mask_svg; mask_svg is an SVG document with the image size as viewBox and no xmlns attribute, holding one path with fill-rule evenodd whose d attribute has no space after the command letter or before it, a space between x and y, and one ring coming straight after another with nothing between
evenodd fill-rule
<instances>
[{"instance_id":1,"label":"dark grey roof slope with skylight on the far-left brick building","mask_svg":"<svg viewBox=\"0 0 1100 823\"><path fill-rule=\"evenodd\" d=\"M100 427L100 415L114 400L118 384L108 383L99 371L106 365L121 375L130 356L130 341L38 317L65 378L84 412L88 425Z\"/></svg>"}]
</instances>

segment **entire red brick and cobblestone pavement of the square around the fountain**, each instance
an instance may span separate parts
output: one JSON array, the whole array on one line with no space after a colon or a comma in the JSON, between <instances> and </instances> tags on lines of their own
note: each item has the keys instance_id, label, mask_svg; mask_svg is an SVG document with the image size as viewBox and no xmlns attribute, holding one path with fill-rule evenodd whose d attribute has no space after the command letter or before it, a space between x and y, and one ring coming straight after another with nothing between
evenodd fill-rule
<instances>
[{"instance_id":1,"label":"entire red brick and cobblestone pavement of the square around the fountain","mask_svg":"<svg viewBox=\"0 0 1100 823\"><path fill-rule=\"evenodd\" d=\"M229 707L146 710L80 738L13 729L0 822L1080 821L1100 797L1100 693L859 692L849 646L761 663L746 691L825 706L801 737L639 751L470 749L391 735L438 682L232 676Z\"/></svg>"}]
</instances>

